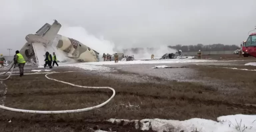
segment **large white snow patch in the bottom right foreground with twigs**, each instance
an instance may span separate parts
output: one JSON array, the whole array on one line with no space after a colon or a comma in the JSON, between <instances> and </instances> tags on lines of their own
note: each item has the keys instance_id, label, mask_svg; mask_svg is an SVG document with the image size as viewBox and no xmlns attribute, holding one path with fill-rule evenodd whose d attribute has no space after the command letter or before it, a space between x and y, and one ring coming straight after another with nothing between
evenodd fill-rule
<instances>
[{"instance_id":1,"label":"large white snow patch in the bottom right foreground with twigs","mask_svg":"<svg viewBox=\"0 0 256 132\"><path fill-rule=\"evenodd\" d=\"M256 132L256 115L228 115L217 118L217 121L192 118L189 120L164 120L164 119L143 119L140 121L141 130L152 129L156 132L172 131L172 132L191 132L197 130L199 132ZM109 119L109 122L124 123L132 122L132 120ZM136 122L135 122L136 123Z\"/></svg>"}]
</instances>

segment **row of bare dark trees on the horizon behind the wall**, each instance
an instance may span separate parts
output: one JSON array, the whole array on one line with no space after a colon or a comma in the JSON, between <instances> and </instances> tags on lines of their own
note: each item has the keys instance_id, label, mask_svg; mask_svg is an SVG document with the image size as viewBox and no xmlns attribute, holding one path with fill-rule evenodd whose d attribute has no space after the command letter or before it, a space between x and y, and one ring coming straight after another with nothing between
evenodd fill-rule
<instances>
[{"instance_id":1,"label":"row of bare dark trees on the horizon behind the wall","mask_svg":"<svg viewBox=\"0 0 256 132\"><path fill-rule=\"evenodd\" d=\"M212 44L212 45L176 45L176 46L168 46L169 48L175 50L182 50L182 52L193 52L193 51L233 51L240 49L240 47L236 45L223 45L223 44Z\"/></svg>"}]
</instances>

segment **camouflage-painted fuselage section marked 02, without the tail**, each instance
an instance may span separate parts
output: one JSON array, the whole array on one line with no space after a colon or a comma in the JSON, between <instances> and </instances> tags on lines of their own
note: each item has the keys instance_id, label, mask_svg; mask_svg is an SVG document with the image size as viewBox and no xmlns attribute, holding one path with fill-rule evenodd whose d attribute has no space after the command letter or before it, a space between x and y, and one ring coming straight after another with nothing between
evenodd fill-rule
<instances>
[{"instance_id":1,"label":"camouflage-painted fuselage section marked 02, without the tail","mask_svg":"<svg viewBox=\"0 0 256 132\"><path fill-rule=\"evenodd\" d=\"M57 45L56 45L57 44ZM67 53L66 57L80 62L99 62L99 53L77 40L57 35L52 44L58 50Z\"/></svg>"}]
</instances>

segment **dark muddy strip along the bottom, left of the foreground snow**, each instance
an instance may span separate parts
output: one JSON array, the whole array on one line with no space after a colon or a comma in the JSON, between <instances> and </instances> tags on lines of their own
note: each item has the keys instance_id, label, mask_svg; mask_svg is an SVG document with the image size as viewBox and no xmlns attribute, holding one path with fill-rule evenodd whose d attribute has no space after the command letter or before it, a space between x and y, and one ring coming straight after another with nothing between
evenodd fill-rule
<instances>
[{"instance_id":1,"label":"dark muddy strip along the bottom, left of the foreground snow","mask_svg":"<svg viewBox=\"0 0 256 132\"><path fill-rule=\"evenodd\" d=\"M0 121L1 124L5 124L6 122ZM139 124L139 129L135 129L135 123L130 122L127 124L124 124L124 122L121 122L119 124L117 123L111 123L109 121L95 121L95 120L28 120L28 119L22 119L22 120L15 120L13 119L11 124L7 123L5 124L5 128L14 128L14 127L29 127L37 125L38 128L51 128L51 127L59 127L59 128L72 128L75 131L81 131L81 130L88 130L88 128L91 128L90 130L104 130L104 131L118 131L118 132L141 132L140 127L141 124ZM89 132L89 131L88 131ZM154 132L152 129L146 130L143 132Z\"/></svg>"}]
</instances>

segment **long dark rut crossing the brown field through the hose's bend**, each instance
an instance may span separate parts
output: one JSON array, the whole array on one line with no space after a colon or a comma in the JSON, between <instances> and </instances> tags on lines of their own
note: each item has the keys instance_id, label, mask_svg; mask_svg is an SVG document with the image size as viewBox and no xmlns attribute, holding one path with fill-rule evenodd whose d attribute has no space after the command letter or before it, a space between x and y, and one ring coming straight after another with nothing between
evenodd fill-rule
<instances>
[{"instance_id":1,"label":"long dark rut crossing the brown field through the hose's bend","mask_svg":"<svg viewBox=\"0 0 256 132\"><path fill-rule=\"evenodd\" d=\"M64 94L107 94L108 96L112 95L112 92L110 91L68 91L68 92L32 92L32 93L18 93L18 94L6 94L8 97L21 97L21 96L48 96L48 95L64 95ZM154 99L167 99L167 100L182 100L187 101L188 103L192 104L205 104L205 105L226 105L229 107L239 107L243 109L255 109L256 110L256 104L242 104L242 103L236 103L236 102L228 102L228 101L220 101L220 100L203 100L200 98L189 98L186 96L162 96L162 95L152 95L152 94L143 94L138 92L129 92L129 91L116 91L116 95L135 95L138 97L144 97L144 98L154 98Z\"/></svg>"}]
</instances>

